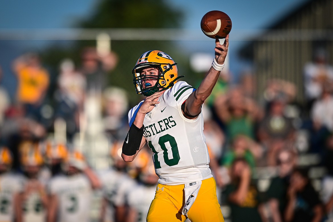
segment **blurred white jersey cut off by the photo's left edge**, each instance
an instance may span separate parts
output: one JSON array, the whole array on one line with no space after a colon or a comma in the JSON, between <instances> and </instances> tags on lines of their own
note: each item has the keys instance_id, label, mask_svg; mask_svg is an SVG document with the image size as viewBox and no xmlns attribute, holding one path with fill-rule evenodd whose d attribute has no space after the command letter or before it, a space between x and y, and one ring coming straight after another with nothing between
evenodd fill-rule
<instances>
[{"instance_id":1,"label":"blurred white jersey cut off by the photo's left edge","mask_svg":"<svg viewBox=\"0 0 333 222\"><path fill-rule=\"evenodd\" d=\"M12 173L0 176L0 222L14 221L14 194L23 190L22 177Z\"/></svg>"}]
</instances>

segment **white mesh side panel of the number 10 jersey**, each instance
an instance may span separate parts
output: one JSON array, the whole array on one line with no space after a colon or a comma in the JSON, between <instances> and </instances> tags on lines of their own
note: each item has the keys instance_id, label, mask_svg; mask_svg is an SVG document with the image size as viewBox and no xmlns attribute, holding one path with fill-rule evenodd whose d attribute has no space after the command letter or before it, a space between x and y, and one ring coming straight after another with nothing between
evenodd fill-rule
<instances>
[{"instance_id":1,"label":"white mesh side panel of the number 10 jersey","mask_svg":"<svg viewBox=\"0 0 333 222\"><path fill-rule=\"evenodd\" d=\"M194 166L198 167L203 179L208 179L211 177L211 171L207 165L207 147L202 140L200 121L185 122L185 130Z\"/></svg>"}]
</instances>

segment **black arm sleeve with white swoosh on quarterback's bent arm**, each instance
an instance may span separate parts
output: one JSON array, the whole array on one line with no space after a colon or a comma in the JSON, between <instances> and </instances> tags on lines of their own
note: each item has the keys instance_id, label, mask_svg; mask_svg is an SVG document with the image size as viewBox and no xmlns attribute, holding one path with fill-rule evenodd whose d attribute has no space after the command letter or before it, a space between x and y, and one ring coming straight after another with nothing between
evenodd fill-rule
<instances>
[{"instance_id":1,"label":"black arm sleeve with white swoosh on quarterback's bent arm","mask_svg":"<svg viewBox=\"0 0 333 222\"><path fill-rule=\"evenodd\" d=\"M140 129L132 123L123 144L123 153L127 156L133 156L140 148L145 126Z\"/></svg>"}]
</instances>

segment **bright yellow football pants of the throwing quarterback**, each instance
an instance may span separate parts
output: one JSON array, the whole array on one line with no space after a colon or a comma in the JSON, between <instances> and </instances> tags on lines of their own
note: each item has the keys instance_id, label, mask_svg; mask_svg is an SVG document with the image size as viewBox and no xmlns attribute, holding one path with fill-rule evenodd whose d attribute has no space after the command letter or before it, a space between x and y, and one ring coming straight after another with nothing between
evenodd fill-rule
<instances>
[{"instance_id":1,"label":"bright yellow football pants of the throwing quarterback","mask_svg":"<svg viewBox=\"0 0 333 222\"><path fill-rule=\"evenodd\" d=\"M155 198L150 205L147 222L183 222L184 185L158 184ZM191 222L224 222L216 197L216 183L213 177L202 180L193 205L187 212Z\"/></svg>"}]
</instances>

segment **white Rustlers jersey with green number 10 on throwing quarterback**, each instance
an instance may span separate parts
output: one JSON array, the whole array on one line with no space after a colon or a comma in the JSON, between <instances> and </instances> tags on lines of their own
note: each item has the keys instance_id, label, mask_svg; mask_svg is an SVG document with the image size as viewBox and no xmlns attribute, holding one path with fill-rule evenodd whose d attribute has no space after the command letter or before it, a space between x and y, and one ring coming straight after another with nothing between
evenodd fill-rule
<instances>
[{"instance_id":1,"label":"white Rustlers jersey with green number 10 on throwing quarterback","mask_svg":"<svg viewBox=\"0 0 333 222\"><path fill-rule=\"evenodd\" d=\"M144 137L154 152L161 184L179 185L212 177L202 113L196 119L187 119L181 111L181 105L194 90L186 82L177 82L145 116ZM129 111L130 125L143 102Z\"/></svg>"}]
</instances>

